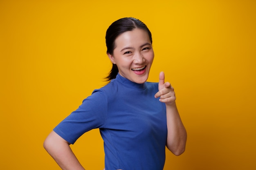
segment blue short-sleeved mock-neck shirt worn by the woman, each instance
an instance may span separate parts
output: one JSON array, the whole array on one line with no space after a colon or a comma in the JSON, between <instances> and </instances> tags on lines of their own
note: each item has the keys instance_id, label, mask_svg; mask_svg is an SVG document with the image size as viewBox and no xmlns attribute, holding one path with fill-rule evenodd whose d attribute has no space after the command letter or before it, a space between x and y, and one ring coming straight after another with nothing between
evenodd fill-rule
<instances>
[{"instance_id":1,"label":"blue short-sleeved mock-neck shirt worn by the woman","mask_svg":"<svg viewBox=\"0 0 256 170\"><path fill-rule=\"evenodd\" d=\"M54 131L74 144L99 128L106 170L163 170L167 137L166 107L155 99L158 83L137 84L117 75L94 90Z\"/></svg>"}]
</instances>

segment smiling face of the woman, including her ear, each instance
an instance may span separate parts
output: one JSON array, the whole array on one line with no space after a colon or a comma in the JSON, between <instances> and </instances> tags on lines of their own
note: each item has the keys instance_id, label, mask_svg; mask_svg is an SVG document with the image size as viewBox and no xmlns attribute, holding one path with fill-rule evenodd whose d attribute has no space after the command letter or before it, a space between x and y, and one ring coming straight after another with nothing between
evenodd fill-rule
<instances>
[{"instance_id":1,"label":"smiling face of the woman, including her ear","mask_svg":"<svg viewBox=\"0 0 256 170\"><path fill-rule=\"evenodd\" d=\"M108 57L117 64L119 74L135 83L146 82L154 59L148 33L143 29L126 31L116 38L115 45Z\"/></svg>"}]
</instances>

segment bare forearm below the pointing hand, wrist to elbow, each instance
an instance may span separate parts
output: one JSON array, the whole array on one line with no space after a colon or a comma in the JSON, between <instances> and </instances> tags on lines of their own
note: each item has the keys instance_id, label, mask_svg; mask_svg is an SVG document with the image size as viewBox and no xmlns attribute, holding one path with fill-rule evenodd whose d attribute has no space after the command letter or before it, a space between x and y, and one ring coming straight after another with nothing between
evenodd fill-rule
<instances>
[{"instance_id":1,"label":"bare forearm below the pointing hand, wrist to elbow","mask_svg":"<svg viewBox=\"0 0 256 170\"><path fill-rule=\"evenodd\" d=\"M181 155L185 151L187 135L175 102L166 105L166 119L168 130L166 147L174 155Z\"/></svg>"}]
</instances>

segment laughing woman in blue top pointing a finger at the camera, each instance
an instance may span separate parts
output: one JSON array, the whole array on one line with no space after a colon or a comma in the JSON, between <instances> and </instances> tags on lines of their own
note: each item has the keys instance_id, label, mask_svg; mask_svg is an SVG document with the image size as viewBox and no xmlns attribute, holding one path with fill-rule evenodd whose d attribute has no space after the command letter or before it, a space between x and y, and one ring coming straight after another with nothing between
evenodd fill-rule
<instances>
[{"instance_id":1,"label":"laughing woman in blue top pointing a finger at the camera","mask_svg":"<svg viewBox=\"0 0 256 170\"><path fill-rule=\"evenodd\" d=\"M84 170L69 145L99 128L106 170L163 170L165 146L182 154L186 130L164 73L159 83L146 82L154 59L151 33L140 20L122 18L109 26L106 45L110 82L58 124L44 147L63 170Z\"/></svg>"}]
</instances>

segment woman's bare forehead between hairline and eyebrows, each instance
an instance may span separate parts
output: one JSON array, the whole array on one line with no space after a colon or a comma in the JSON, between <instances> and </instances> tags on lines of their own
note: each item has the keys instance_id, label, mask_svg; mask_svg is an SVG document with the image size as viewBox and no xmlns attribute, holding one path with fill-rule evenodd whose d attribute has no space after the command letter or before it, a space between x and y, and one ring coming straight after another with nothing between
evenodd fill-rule
<instances>
[{"instance_id":1,"label":"woman's bare forehead between hairline and eyebrows","mask_svg":"<svg viewBox=\"0 0 256 170\"><path fill-rule=\"evenodd\" d=\"M133 29L132 31L126 31L121 33L115 40L116 48L123 46L136 46L144 43L150 43L150 38L147 31L144 29Z\"/></svg>"}]
</instances>

